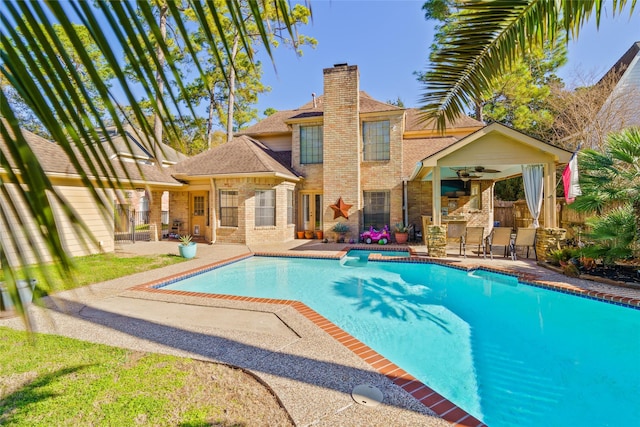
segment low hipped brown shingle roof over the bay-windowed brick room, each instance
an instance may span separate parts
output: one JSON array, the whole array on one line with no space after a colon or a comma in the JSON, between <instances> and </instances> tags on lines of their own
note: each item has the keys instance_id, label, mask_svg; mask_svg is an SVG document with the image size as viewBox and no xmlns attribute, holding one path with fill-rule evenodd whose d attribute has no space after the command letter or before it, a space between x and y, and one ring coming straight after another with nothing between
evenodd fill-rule
<instances>
[{"instance_id":1,"label":"low hipped brown shingle roof over the bay-windowed brick room","mask_svg":"<svg viewBox=\"0 0 640 427\"><path fill-rule=\"evenodd\" d=\"M288 162L288 163L283 163ZM184 160L171 168L174 176L278 175L298 180L289 166L291 152L274 152L246 135Z\"/></svg>"}]
</instances>

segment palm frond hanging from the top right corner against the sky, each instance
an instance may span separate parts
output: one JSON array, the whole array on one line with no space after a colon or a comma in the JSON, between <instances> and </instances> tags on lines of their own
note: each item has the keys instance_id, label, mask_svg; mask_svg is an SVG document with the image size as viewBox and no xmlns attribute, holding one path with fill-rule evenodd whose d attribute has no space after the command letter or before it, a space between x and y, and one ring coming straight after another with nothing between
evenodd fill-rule
<instances>
[{"instance_id":1,"label":"palm frond hanging from the top right corner against the sky","mask_svg":"<svg viewBox=\"0 0 640 427\"><path fill-rule=\"evenodd\" d=\"M633 12L635 1L630 2ZM430 56L421 110L435 119L440 130L462 115L475 99L491 87L518 56L545 42L555 42L560 32L577 37L591 17L599 23L601 1L509 0L456 2L456 26L447 43ZM613 0L611 13L621 13L627 0ZM561 28L562 30L558 30Z\"/></svg>"}]
</instances>

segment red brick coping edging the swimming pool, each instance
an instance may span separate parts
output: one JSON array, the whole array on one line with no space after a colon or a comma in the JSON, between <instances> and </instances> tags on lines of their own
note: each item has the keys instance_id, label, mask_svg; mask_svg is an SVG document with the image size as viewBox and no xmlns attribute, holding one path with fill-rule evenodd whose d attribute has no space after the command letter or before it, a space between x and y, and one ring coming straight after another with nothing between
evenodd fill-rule
<instances>
[{"instance_id":1,"label":"red brick coping edging the swimming pool","mask_svg":"<svg viewBox=\"0 0 640 427\"><path fill-rule=\"evenodd\" d=\"M158 288L160 285L166 285L171 282L175 282L178 280L185 279L190 276L194 276L196 274L200 274L207 270L212 270L215 268L219 268L221 266L234 263L236 261L240 261L245 258L256 256L273 256L273 257L295 257L295 258L315 258L315 259L340 259L342 258L349 250L352 249L366 249L371 250L371 247L349 247L348 249L343 249L336 255L314 255L314 254L301 254L301 253L281 253L281 252L265 252L265 253L247 253L243 255L238 255L233 258L229 258L223 261L215 262L203 267L195 268L193 270L188 270L186 272L182 272L179 274L175 274L173 276L165 277L163 279L155 280L149 283L144 283L142 285L137 285L131 290L137 291L145 291L145 292L157 292L163 294L172 294L172 295L180 295L180 296L194 296L201 298L214 298L214 299L224 299L230 301L242 301L242 302L252 302L252 303L267 303L267 304L278 304L278 305L286 305L294 308L298 313L302 316L306 317L308 320L313 322L316 326L321 328L323 331L328 333L332 338L336 341L344 345L346 348L351 350L354 354L360 357L362 360L367 362L371 367L376 369L379 373L389 378L394 384L398 385L406 392L408 392L411 396L417 399L420 403L425 405L427 408L432 410L436 415L440 418L452 423L454 426L485 426L485 424L468 414L462 408L459 408L454 403L450 402L448 399L437 393L435 390L431 389L429 386L422 383L420 380L416 379L411 374L404 371L399 366L395 365L382 355L378 354L375 350L351 336L348 332L345 332L338 326L334 325L331 321L318 314L315 310L308 307L306 304L301 303L299 301L293 300L281 300L281 299L270 299L270 298L255 298L255 297L242 297L242 296L233 296L233 295L224 295L224 294L205 294L200 292L187 292L187 291L177 291L177 290L166 290ZM380 251L384 250L395 250L395 249L376 249ZM606 302L611 302L619 305L627 305L634 308L640 308L640 299L630 298L630 297L622 297L618 295L611 295L604 292L592 291L582 289L577 286L573 286L563 282L550 282L550 281L540 281L536 280L535 275L521 272L514 272L505 268L495 268L495 267L487 267L486 265L465 265L460 266L452 263L451 261L441 260L436 258L422 258L415 257L415 254L410 253L411 258L407 257L385 257L381 254L371 254L369 259L372 261L402 261L407 263L423 263L423 264L441 264L446 265L448 267L457 268L460 270L486 270L493 271L497 273L503 273L510 276L516 276L518 279L532 286L553 289L556 291L575 294L587 298L599 299Z\"/></svg>"}]
</instances>

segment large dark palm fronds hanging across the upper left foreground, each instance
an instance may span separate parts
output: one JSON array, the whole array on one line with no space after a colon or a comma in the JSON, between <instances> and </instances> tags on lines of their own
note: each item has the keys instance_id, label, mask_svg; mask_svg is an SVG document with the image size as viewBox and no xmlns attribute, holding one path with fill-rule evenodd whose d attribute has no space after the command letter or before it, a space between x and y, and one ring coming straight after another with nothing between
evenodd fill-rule
<instances>
[{"instance_id":1,"label":"large dark palm fronds hanging across the upper left foreground","mask_svg":"<svg viewBox=\"0 0 640 427\"><path fill-rule=\"evenodd\" d=\"M270 30L264 23L260 24L261 14L258 6L264 2L247 0L254 7L243 9L240 1L229 0L227 6L236 16L255 16L258 22L257 29L263 40L269 40ZM193 10L194 22L190 25L204 26L214 23L214 29L222 32L219 19L211 19L216 11L202 8L197 0L189 0L188 6ZM277 5L281 10L286 10L285 0L271 0L269 3ZM121 180L115 173L113 163L108 159L108 153L104 149L101 135L95 129L102 130L106 135L106 123L112 121L123 129L118 122L120 109L112 98L109 90L109 81L100 74L99 68L92 59L91 51L82 39L82 33L75 26L73 20L82 22L87 28L90 39L98 47L104 56L106 63L112 70L114 80L120 86L123 98L129 104L135 119L141 123L147 123L145 112L137 103L135 88L129 75L125 73L121 58L116 58L114 51L122 49L125 58L130 65L130 71L137 76L143 92L152 103L154 111L163 115L163 123L169 129L176 126L176 122L167 114L168 108L161 108L157 104L154 95L158 92L156 70L161 74L163 81L167 79L167 72L178 88L184 87L176 63L169 58L169 47L165 42L154 44L154 40L162 40L161 32L153 15L150 4L137 3L140 13L136 13L130 2L5 2L2 5L0 18L0 74L6 79L9 87L15 90L17 96L25 105L33 111L37 119L42 123L46 131L59 144L66 153L70 168L81 177L92 193L95 202L102 206L102 189L117 190L126 184L126 179ZM185 53L195 64L195 73L204 74L202 68L195 61L196 49L188 40L188 31L185 20L178 6L173 2L167 2L167 19L176 22L176 31L184 37ZM69 38L69 45L65 46L61 35L56 32L54 25L59 25L64 35ZM283 24L293 37L294 29L290 20L285 17ZM247 29L239 21L234 21L237 26L239 40L246 43L249 37ZM18 30L16 30L16 28ZM148 32L142 31L148 28ZM20 37L20 34L29 33L29 37ZM135 35L140 34L138 40ZM109 35L109 37L107 37ZM208 42L215 44L212 34L208 35ZM168 58L167 70L159 66L154 52L160 48ZM226 51L230 50L228 44L223 43ZM271 47L265 43L264 48L271 55ZM29 53L29 54L25 54ZM72 66L73 58L77 58L77 64L82 65L82 70ZM219 62L223 66L223 62ZM62 70L66 70L62 72ZM168 104L180 111L175 90L168 85L168 96L162 103ZM104 106L104 114L99 106ZM193 105L187 108L192 110ZM63 277L72 280L70 275L71 260L66 254L58 223L53 215L54 204L62 210L57 215L64 215L71 224L78 239L86 239L97 245L91 230L74 215L73 211L65 204L59 190L52 185L45 174L37 157L29 143L21 133L20 123L15 114L15 105L10 103L6 91L0 91L0 111L3 120L0 120L0 135L4 144L0 147L0 165L2 173L2 186L0 196L0 218L6 222L6 218L13 215L19 209L24 213L19 218L21 224L26 224L28 217L35 226L11 229L9 233L0 236L0 268L5 275L7 286L14 305L24 314L24 308L16 289L18 270L26 268L27 274L39 269L49 259L52 259ZM105 117L106 115L106 117ZM149 130L146 126L145 131ZM113 142L107 135L106 144L113 149ZM143 173L140 170L140 173ZM90 177L101 176L105 179L91 180ZM105 207L103 211L105 220L108 220L111 211ZM43 242L42 248L38 247L35 253L31 250L32 243ZM86 240L85 240L86 241ZM17 259L8 259L5 248L9 245L16 248ZM27 256L35 256L36 264L30 264ZM45 274L45 276L47 276ZM49 284L50 285L50 284ZM28 318L23 315L28 325Z\"/></svg>"}]
</instances>

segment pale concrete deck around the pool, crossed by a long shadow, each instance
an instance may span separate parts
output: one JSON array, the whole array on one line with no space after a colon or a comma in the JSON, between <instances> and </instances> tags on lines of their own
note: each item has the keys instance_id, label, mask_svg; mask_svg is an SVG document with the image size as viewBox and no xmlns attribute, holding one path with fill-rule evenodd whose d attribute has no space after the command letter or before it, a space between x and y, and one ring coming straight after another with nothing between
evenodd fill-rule
<instances>
[{"instance_id":1,"label":"pale concrete deck around the pool, crossed by a long shadow","mask_svg":"<svg viewBox=\"0 0 640 427\"><path fill-rule=\"evenodd\" d=\"M268 384L296 425L451 425L432 415L427 408L432 405L425 406L417 400L424 395L426 403L434 396L428 396L424 389L416 389L418 386L413 387L408 381L392 381L397 372L391 375L394 371L389 371L389 365L381 366L375 355L364 357L357 343L350 347L355 350L347 348L351 341L348 336L324 324L304 307L150 292L140 287L250 252L332 256L345 246L348 245L313 240L250 248L199 244L193 260L57 293L46 300L47 308L31 307L30 316L38 332L247 369ZM420 246L412 249L418 255L424 251ZM178 249L176 242L137 242L119 244L117 252L177 255ZM452 256L447 260L463 267L485 265L551 284L640 300L639 289L568 278L538 266L533 260L501 257L483 260L475 256L466 259ZM0 319L0 325L23 327L18 318ZM383 374L385 370L389 375ZM356 403L351 391L360 384L380 389L383 403L377 407ZM437 413L444 413L451 421L459 420L460 425L479 424L472 417L459 414L457 408L440 409L436 406Z\"/></svg>"}]
</instances>

